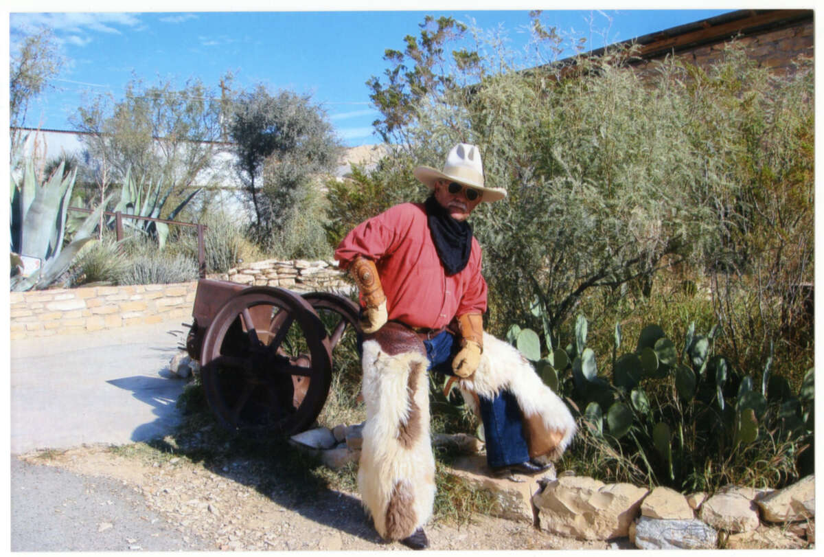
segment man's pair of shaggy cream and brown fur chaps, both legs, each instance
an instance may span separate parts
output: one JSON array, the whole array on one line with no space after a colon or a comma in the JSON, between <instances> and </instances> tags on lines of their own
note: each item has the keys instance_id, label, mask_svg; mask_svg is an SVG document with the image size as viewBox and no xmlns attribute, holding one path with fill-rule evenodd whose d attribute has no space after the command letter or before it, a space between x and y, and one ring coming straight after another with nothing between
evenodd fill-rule
<instances>
[{"instance_id":1,"label":"man's pair of shaggy cream and brown fur chaps, both legs","mask_svg":"<svg viewBox=\"0 0 824 557\"><path fill-rule=\"evenodd\" d=\"M432 516L435 461L429 434L428 359L424 344L402 325L389 323L363 342L366 424L358 490L375 529L402 540ZM484 334L480 366L458 381L466 403L480 416L477 396L508 390L523 414L529 455L554 460L569 446L575 420L513 346Z\"/></svg>"}]
</instances>

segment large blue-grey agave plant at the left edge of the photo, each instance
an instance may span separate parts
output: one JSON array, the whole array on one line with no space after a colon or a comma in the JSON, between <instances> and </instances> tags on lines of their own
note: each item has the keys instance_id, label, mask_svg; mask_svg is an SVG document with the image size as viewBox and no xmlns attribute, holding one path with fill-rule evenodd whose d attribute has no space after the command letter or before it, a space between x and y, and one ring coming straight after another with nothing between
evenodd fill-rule
<instances>
[{"instance_id":1,"label":"large blue-grey agave plant at the left edge of the photo","mask_svg":"<svg viewBox=\"0 0 824 557\"><path fill-rule=\"evenodd\" d=\"M11 190L11 250L16 255L41 260L37 273L17 274L10 281L12 291L46 288L63 274L74 257L92 236L105 202L96 208L77 228L68 246L63 246L66 233L66 213L72 198L75 171L63 176L63 163L45 180L37 183L34 162L26 161L21 180L12 173ZM19 258L18 258L19 259Z\"/></svg>"}]
</instances>

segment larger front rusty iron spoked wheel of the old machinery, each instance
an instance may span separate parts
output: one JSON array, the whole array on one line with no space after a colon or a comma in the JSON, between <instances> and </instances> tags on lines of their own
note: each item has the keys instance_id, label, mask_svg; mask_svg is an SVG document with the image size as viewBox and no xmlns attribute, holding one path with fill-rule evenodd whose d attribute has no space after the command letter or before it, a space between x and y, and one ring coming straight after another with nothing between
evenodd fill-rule
<instances>
[{"instance_id":1,"label":"larger front rusty iron spoked wheel of the old machinery","mask_svg":"<svg viewBox=\"0 0 824 557\"><path fill-rule=\"evenodd\" d=\"M293 435L314 424L329 395L331 344L311 304L283 288L245 288L209 325L201 377L230 431Z\"/></svg>"}]
</instances>

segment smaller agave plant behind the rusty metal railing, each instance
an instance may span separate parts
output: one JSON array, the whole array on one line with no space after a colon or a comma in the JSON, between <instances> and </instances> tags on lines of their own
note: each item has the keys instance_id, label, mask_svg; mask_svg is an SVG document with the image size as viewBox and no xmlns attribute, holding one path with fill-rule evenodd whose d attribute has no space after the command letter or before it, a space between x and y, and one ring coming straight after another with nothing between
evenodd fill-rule
<instances>
[{"instance_id":1,"label":"smaller agave plant behind the rusty metal railing","mask_svg":"<svg viewBox=\"0 0 824 557\"><path fill-rule=\"evenodd\" d=\"M143 180L135 180L132 176L131 169L126 171L126 177L123 180L123 186L120 188L120 199L115 206L115 211L127 215L137 215L140 217L160 218L160 213L163 205L166 204L166 199L172 190L171 186L165 192L161 191L160 182L152 184L152 181L144 182ZM200 188L194 190L186 197L169 215L166 217L174 220L177 214L188 204ZM147 234L157 236L157 243L160 249L166 246L166 237L169 236L169 225L165 222L143 221L138 219L127 218L124 220L124 226L132 228L135 231L141 231Z\"/></svg>"}]
</instances>

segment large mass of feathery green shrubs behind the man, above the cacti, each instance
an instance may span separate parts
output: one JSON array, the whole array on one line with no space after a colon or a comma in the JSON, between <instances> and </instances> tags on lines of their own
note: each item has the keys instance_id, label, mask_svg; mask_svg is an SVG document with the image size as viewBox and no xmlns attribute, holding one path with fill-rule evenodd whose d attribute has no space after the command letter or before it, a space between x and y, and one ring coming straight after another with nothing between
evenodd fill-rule
<instances>
[{"instance_id":1,"label":"large mass of feathery green shrubs behind the man, above the cacti","mask_svg":"<svg viewBox=\"0 0 824 557\"><path fill-rule=\"evenodd\" d=\"M531 19L535 48L524 52L555 51L559 37ZM712 292L736 344L730 358L763 358L782 335L775 302L812 282L812 64L777 75L733 42L711 68L668 58L642 74L628 64L632 49L608 49L562 72L483 39L466 49L468 34L428 17L419 39L387 51L390 68L369 85L400 180L369 178L412 188L414 166L440 166L457 142L480 147L486 181L508 190L471 219L492 330L540 328L535 297L559 329L592 293L626 285L648 296L655 274L681 260L719 273ZM723 311L730 296L736 314ZM793 316L802 304L788 301ZM745 334L759 306L771 315Z\"/></svg>"}]
</instances>

